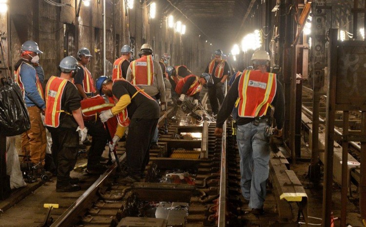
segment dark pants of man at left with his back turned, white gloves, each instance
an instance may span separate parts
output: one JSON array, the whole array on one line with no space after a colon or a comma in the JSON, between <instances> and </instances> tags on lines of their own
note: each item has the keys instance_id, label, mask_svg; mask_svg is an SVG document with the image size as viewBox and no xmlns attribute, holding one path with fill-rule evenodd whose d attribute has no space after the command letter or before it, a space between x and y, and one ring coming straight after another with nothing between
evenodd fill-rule
<instances>
[{"instance_id":1,"label":"dark pants of man at left with his back turned, white gloves","mask_svg":"<svg viewBox=\"0 0 366 227\"><path fill-rule=\"evenodd\" d=\"M49 127L50 128L50 127ZM79 133L76 128L50 128L52 157L57 167L56 187L70 184L70 171L78 158Z\"/></svg>"}]
</instances>

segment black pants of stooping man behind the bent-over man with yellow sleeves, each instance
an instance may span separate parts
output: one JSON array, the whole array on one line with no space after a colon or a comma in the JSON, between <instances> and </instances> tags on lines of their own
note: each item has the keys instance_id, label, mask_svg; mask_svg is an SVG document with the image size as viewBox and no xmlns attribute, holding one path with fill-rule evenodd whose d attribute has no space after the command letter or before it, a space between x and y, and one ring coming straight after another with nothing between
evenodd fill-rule
<instances>
[{"instance_id":1,"label":"black pants of stooping man behind the bent-over man with yellow sleeves","mask_svg":"<svg viewBox=\"0 0 366 227\"><path fill-rule=\"evenodd\" d=\"M101 155L109 137L107 131L105 130L104 124L100 119L97 121L85 121L84 125L88 128L88 134L93 137L92 144L88 152L87 167L90 167L101 162Z\"/></svg>"}]
</instances>

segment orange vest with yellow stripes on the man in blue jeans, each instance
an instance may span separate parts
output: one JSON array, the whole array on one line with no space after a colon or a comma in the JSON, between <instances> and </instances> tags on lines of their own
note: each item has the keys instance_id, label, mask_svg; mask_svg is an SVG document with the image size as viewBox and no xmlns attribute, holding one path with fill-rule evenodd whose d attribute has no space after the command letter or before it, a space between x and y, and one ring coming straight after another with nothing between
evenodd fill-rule
<instances>
[{"instance_id":1,"label":"orange vest with yellow stripes on the man in blue jeans","mask_svg":"<svg viewBox=\"0 0 366 227\"><path fill-rule=\"evenodd\" d=\"M276 74L247 70L239 80L236 106L240 117L254 118L266 114L276 94Z\"/></svg>"}]
</instances>

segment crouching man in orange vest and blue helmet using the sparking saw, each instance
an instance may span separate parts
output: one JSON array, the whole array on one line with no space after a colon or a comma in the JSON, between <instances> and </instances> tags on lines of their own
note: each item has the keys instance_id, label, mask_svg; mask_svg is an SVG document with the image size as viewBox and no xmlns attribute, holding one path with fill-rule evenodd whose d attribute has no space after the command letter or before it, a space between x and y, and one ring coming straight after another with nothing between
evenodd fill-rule
<instances>
[{"instance_id":1,"label":"crouching man in orange vest and blue helmet using the sparking saw","mask_svg":"<svg viewBox=\"0 0 366 227\"><path fill-rule=\"evenodd\" d=\"M213 84L212 78L208 73L203 73L200 77L193 74L184 77L175 87L175 92L180 95L179 101L183 102L185 96L191 96L193 97L193 103L198 105L200 91L206 83Z\"/></svg>"}]
</instances>

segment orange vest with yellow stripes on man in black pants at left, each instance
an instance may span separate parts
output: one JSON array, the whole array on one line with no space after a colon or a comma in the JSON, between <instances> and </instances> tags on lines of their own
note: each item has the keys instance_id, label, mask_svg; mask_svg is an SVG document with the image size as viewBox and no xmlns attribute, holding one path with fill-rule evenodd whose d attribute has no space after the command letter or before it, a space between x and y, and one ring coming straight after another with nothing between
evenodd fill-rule
<instances>
[{"instance_id":1,"label":"orange vest with yellow stripes on man in black pants at left","mask_svg":"<svg viewBox=\"0 0 366 227\"><path fill-rule=\"evenodd\" d=\"M44 124L57 128L60 125L61 99L67 80L52 76L46 85L46 111Z\"/></svg>"}]
</instances>

